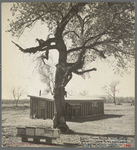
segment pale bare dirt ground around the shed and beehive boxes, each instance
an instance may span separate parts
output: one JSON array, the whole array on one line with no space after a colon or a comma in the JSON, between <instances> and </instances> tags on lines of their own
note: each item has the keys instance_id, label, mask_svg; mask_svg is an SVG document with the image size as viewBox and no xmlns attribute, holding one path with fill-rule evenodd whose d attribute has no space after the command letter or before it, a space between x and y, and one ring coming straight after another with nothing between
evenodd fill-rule
<instances>
[{"instance_id":1,"label":"pale bare dirt ground around the shed and beehive boxes","mask_svg":"<svg viewBox=\"0 0 137 150\"><path fill-rule=\"evenodd\" d=\"M2 146L3 147L134 147L135 146L135 106L131 104L105 104L105 114L67 121L73 131L60 134L60 138L47 145L43 142L24 143L16 137L17 126L52 127L52 120L30 119L29 108L2 108ZM111 144L108 144L110 143ZM100 142L100 144L99 144ZM107 144L106 144L107 143Z\"/></svg>"}]
</instances>

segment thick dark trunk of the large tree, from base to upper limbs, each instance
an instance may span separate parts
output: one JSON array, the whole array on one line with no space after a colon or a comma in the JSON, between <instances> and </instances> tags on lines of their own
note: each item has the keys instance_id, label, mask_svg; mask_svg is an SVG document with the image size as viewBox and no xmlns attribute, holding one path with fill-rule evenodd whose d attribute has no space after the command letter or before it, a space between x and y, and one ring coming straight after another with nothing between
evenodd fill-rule
<instances>
[{"instance_id":1,"label":"thick dark trunk of the large tree, from base to upper limbs","mask_svg":"<svg viewBox=\"0 0 137 150\"><path fill-rule=\"evenodd\" d=\"M59 63L56 65L55 75L55 88L54 88L54 102L55 102L55 114L53 118L53 127L61 129L62 132L68 133L69 128L66 125L66 111L65 111L65 88L62 86L62 81L65 76L65 65L67 60L67 50L64 41L61 38L57 38L57 47L59 51Z\"/></svg>"}]
</instances>

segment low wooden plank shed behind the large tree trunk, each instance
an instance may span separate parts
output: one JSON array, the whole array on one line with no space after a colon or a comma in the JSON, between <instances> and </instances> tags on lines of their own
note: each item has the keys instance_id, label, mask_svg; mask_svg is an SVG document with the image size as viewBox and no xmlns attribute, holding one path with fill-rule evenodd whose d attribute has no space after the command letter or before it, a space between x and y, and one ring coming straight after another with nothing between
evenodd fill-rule
<instances>
[{"instance_id":1,"label":"low wooden plank shed behind the large tree trunk","mask_svg":"<svg viewBox=\"0 0 137 150\"><path fill-rule=\"evenodd\" d=\"M41 96L30 96L30 117L52 119L54 100ZM66 118L104 114L104 98L67 98Z\"/></svg>"}]
</instances>

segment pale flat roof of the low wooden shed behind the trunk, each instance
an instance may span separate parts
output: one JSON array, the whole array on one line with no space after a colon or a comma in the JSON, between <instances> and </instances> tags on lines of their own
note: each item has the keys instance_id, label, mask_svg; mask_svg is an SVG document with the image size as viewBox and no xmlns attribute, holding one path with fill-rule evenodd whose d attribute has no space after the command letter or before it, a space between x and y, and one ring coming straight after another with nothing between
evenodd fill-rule
<instances>
[{"instance_id":1,"label":"pale flat roof of the low wooden shed behind the trunk","mask_svg":"<svg viewBox=\"0 0 137 150\"><path fill-rule=\"evenodd\" d=\"M28 95L28 97L34 97L34 98L40 98L43 100L48 100L48 101L54 101L53 98L46 98L42 96L33 96L33 95ZM99 97L99 98L93 98L93 97L68 97L65 98L65 101L68 102L73 102L73 101L104 101L105 97Z\"/></svg>"}]
</instances>

